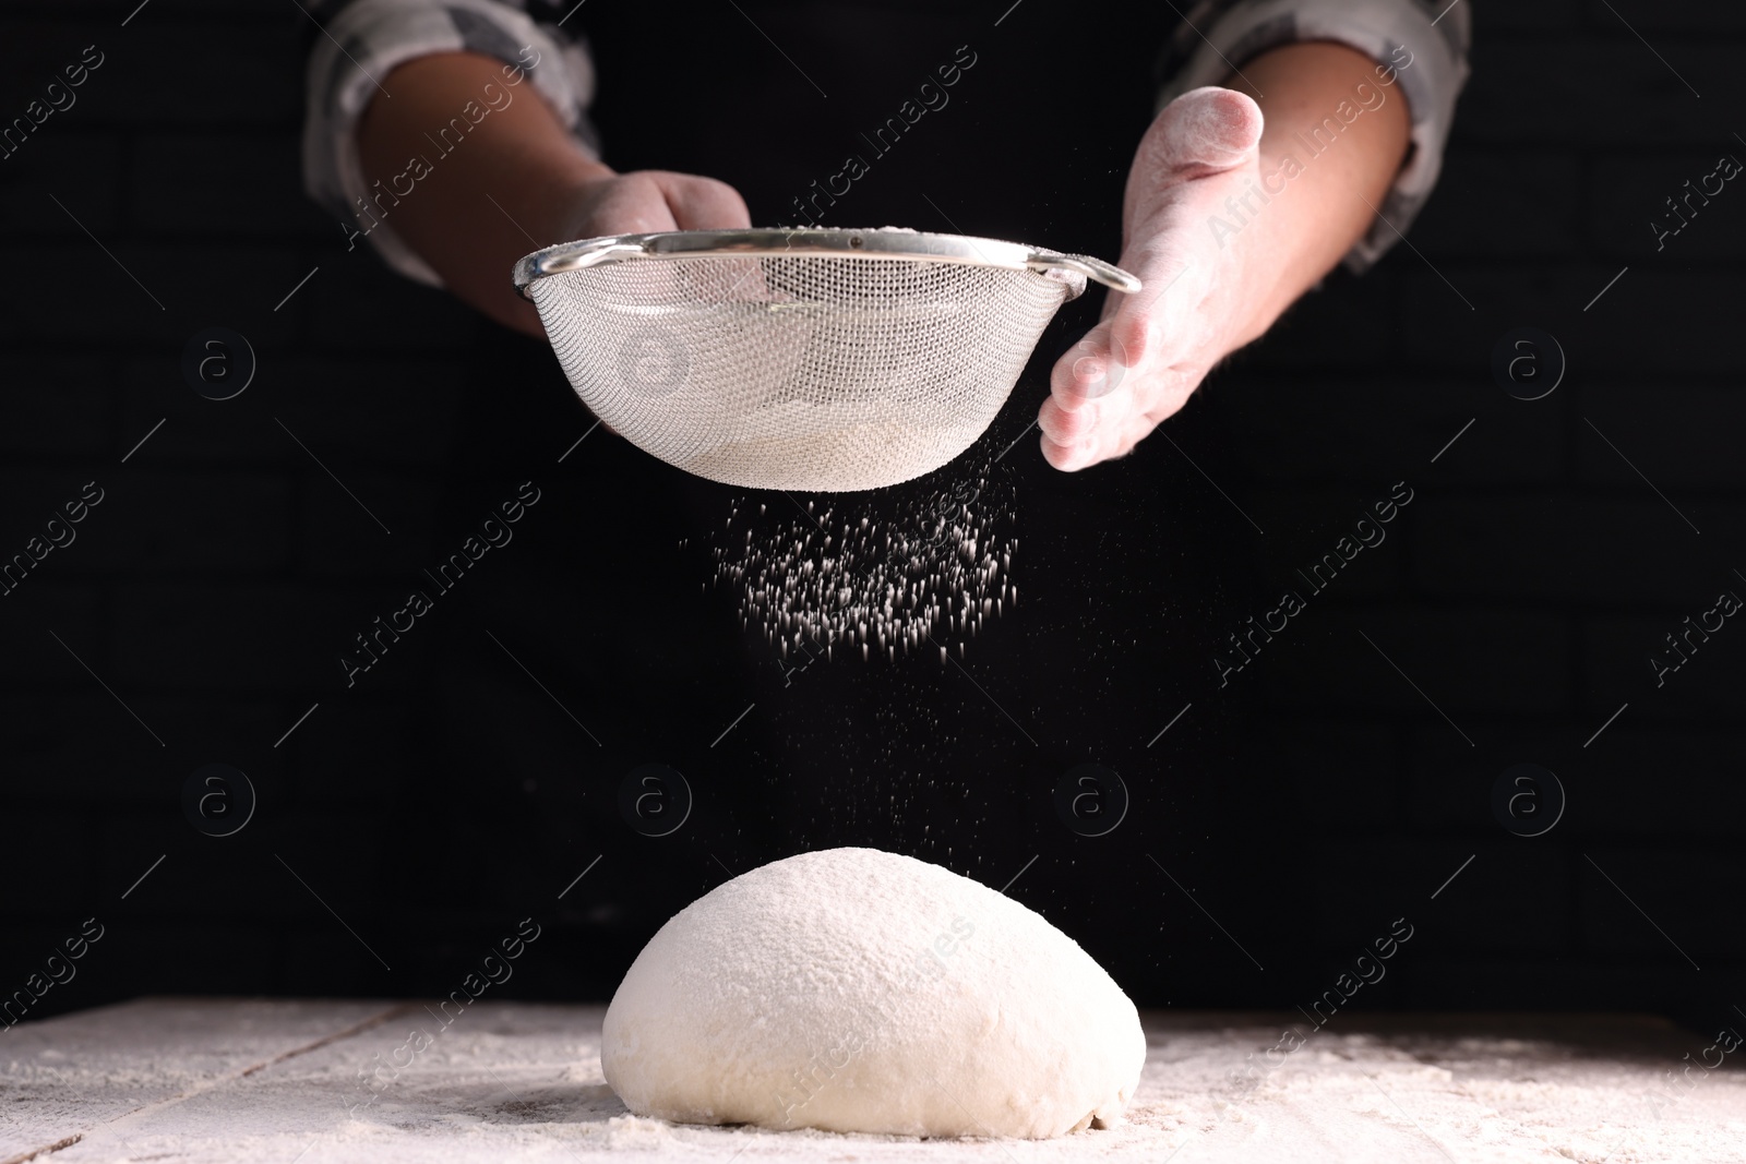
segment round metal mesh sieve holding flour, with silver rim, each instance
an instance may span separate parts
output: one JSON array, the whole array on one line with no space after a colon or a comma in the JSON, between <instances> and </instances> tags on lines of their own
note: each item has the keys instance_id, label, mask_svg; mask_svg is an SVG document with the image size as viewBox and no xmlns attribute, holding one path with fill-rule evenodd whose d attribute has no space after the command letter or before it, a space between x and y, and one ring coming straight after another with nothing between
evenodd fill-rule
<instances>
[{"instance_id":1,"label":"round metal mesh sieve holding flour, with silver rim","mask_svg":"<svg viewBox=\"0 0 1746 1164\"><path fill-rule=\"evenodd\" d=\"M618 234L515 264L620 436L714 482L814 492L969 448L1086 279L1140 290L1098 258L894 227Z\"/></svg>"}]
</instances>

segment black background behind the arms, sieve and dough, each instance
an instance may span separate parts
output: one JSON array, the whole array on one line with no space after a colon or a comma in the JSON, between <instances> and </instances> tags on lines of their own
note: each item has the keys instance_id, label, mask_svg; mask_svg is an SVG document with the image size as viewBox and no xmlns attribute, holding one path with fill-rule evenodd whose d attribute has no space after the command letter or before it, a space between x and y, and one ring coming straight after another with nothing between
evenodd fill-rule
<instances>
[{"instance_id":1,"label":"black background behind the arms, sieve and dough","mask_svg":"<svg viewBox=\"0 0 1746 1164\"><path fill-rule=\"evenodd\" d=\"M543 937L494 995L604 1000L728 871L833 845L995 888L1023 869L1011 894L1140 1005L1306 1005L1395 918L1414 937L1353 1005L1713 1028L1746 1002L1746 632L1662 688L1646 661L1746 593L1746 206L1730 185L1662 251L1648 227L1746 155L1737 5L1620 3L1629 28L1598 2L1474 5L1413 246L1330 276L1165 426L1173 445L1069 476L1020 440L983 504L1021 543L1023 599L962 668L787 677L711 585L744 490L604 431L574 445L590 417L543 344L347 253L302 195L306 16L152 0L122 28L133 7L12 3L0 37L7 119L84 45L107 56L0 161L0 553L105 490L0 597L0 991L105 925L31 1017L162 991L445 995L524 916ZM728 5L639 24L595 0L608 161L712 173L754 222L791 222L787 197L971 44L952 105L829 225L1116 258L1161 28L1044 0L993 28L1002 9L749 9L791 66ZM1063 309L964 461L836 511L889 520L974 478L1095 311ZM206 326L258 356L236 400L182 377ZM1545 400L1493 379L1519 326L1570 359ZM526 480L515 541L347 688L353 635ZM1386 543L1220 689L1224 635L1395 482L1414 499ZM780 494L760 504L766 532L801 520ZM1051 803L1084 761L1133 798L1102 838ZM260 796L229 838L182 811L208 763ZM618 813L643 763L695 792L672 836ZM1517 763L1568 792L1538 838L1491 811Z\"/></svg>"}]
</instances>

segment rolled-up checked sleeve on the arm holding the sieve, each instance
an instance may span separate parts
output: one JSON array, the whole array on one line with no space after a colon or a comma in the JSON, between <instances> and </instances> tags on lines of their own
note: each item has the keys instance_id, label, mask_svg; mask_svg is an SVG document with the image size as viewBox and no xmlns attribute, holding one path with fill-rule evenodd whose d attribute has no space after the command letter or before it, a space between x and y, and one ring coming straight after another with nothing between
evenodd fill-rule
<instances>
[{"instance_id":1,"label":"rolled-up checked sleeve on the arm holding the sieve","mask_svg":"<svg viewBox=\"0 0 1746 1164\"><path fill-rule=\"evenodd\" d=\"M372 99L393 99L382 80L395 66L433 52L478 52L515 65L578 145L599 157L588 120L594 65L587 45L555 26L534 23L512 3L354 0L318 5L314 16L323 31L314 38L306 73L304 190L339 216L347 234L368 227L368 243L410 279L442 286L430 264L395 234L389 215L360 213L368 208L368 183L358 157L358 119Z\"/></svg>"}]
</instances>

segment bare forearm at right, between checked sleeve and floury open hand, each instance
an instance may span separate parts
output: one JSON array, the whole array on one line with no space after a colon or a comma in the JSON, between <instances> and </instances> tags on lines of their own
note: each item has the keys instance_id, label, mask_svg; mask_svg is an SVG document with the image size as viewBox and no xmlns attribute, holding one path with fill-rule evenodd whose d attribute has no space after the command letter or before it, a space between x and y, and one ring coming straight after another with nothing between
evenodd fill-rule
<instances>
[{"instance_id":1,"label":"bare forearm at right, between checked sleeve and floury open hand","mask_svg":"<svg viewBox=\"0 0 1746 1164\"><path fill-rule=\"evenodd\" d=\"M1364 52L1329 42L1262 52L1226 86L1254 98L1266 119L1261 190L1226 216L1247 276L1236 349L1259 339L1369 230L1406 159L1411 112L1392 72L1378 73Z\"/></svg>"}]
</instances>

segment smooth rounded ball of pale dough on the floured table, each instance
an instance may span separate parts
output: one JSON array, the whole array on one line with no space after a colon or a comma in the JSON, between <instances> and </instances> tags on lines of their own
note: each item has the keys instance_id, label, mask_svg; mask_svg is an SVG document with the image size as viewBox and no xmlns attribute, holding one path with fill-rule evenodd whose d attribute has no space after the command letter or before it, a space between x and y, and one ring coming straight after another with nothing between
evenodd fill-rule
<instances>
[{"instance_id":1,"label":"smooth rounded ball of pale dough on the floured table","mask_svg":"<svg viewBox=\"0 0 1746 1164\"><path fill-rule=\"evenodd\" d=\"M906 1136L1109 1126L1144 1063L1138 1012L1077 942L873 848L787 857L686 906L601 1037L637 1115Z\"/></svg>"}]
</instances>

